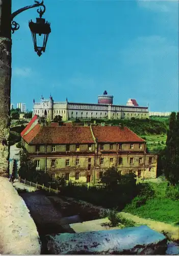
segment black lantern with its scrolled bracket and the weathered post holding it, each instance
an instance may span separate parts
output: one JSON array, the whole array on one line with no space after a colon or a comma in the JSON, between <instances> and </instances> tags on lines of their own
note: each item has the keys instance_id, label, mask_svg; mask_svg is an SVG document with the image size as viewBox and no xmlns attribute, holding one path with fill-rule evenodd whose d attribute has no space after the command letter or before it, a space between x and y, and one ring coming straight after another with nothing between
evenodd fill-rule
<instances>
[{"instance_id":1,"label":"black lantern with its scrolled bracket and the weathered post holding it","mask_svg":"<svg viewBox=\"0 0 179 256\"><path fill-rule=\"evenodd\" d=\"M16 1L16 0L14 0ZM10 96L11 96L11 34L19 29L14 18L21 12L42 7L37 10L40 18L36 23L29 23L33 36L34 50L38 56L45 52L47 39L51 32L50 24L42 18L45 12L43 0L34 1L35 4L11 12L12 0L0 0L0 176L9 176L9 134L10 134ZM43 35L42 45L39 45L37 35Z\"/></svg>"}]
</instances>

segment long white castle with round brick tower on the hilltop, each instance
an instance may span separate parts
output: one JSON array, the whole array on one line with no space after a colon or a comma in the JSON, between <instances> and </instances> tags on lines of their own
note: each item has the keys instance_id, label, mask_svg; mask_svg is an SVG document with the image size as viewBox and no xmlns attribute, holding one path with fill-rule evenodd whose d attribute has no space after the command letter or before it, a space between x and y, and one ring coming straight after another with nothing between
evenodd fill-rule
<instances>
[{"instance_id":1,"label":"long white castle with round brick tower on the hilltop","mask_svg":"<svg viewBox=\"0 0 179 256\"><path fill-rule=\"evenodd\" d=\"M131 100L131 99L130 99ZM129 101L127 101L129 102ZM137 102L136 102L137 103ZM75 119L122 119L122 118L148 118L148 107L127 103L126 105L114 105L113 96L105 91L98 96L98 103L74 103L55 102L50 95L48 99L41 97L40 102L33 102L33 116L39 115L53 120L55 116L62 116L62 120Z\"/></svg>"}]
</instances>

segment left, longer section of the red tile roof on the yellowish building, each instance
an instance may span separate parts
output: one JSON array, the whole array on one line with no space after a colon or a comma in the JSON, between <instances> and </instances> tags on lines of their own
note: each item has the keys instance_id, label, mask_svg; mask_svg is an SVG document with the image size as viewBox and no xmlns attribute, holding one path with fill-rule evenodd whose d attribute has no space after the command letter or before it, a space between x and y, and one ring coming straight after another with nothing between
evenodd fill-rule
<instances>
[{"instance_id":1,"label":"left, longer section of the red tile roof on the yellowish building","mask_svg":"<svg viewBox=\"0 0 179 256\"><path fill-rule=\"evenodd\" d=\"M41 126L39 129L36 125L29 134L23 138L30 144L94 143L90 127L85 126Z\"/></svg>"}]
</instances>

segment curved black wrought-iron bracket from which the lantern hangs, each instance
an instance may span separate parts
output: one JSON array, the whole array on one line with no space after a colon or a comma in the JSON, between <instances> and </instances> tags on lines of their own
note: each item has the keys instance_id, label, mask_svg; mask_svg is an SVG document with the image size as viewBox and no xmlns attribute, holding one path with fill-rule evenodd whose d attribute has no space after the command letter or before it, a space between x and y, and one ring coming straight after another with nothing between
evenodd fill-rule
<instances>
[{"instance_id":1,"label":"curved black wrought-iron bracket from which the lantern hangs","mask_svg":"<svg viewBox=\"0 0 179 256\"><path fill-rule=\"evenodd\" d=\"M13 19L15 16L17 16L19 13L23 12L23 11L26 11L28 9L31 9L31 8L35 8L35 7L39 7L40 6L40 9L37 9L37 12L39 13L40 15L40 18L42 17L42 15L44 14L45 12L45 5L43 4L43 0L42 2L40 3L39 1L34 1L35 4L33 5L29 5L29 6L25 6L25 7L22 7L20 8L19 10L15 11L12 13L11 15L11 30L12 30L12 34L14 33L15 30L18 30L20 25L18 23L16 23ZM43 7L43 9L41 9L41 6Z\"/></svg>"}]
</instances>

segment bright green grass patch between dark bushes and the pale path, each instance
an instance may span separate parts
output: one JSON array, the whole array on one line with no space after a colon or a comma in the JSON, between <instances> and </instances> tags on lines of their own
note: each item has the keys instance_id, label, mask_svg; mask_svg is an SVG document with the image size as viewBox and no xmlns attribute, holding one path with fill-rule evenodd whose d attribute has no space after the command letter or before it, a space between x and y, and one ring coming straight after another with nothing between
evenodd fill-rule
<instances>
[{"instance_id":1,"label":"bright green grass patch between dark bushes and the pale path","mask_svg":"<svg viewBox=\"0 0 179 256\"><path fill-rule=\"evenodd\" d=\"M179 221L179 202L169 198L164 198L167 183L151 183L155 188L155 198L149 199L146 204L136 208L129 204L124 208L125 212L145 219L152 219L169 224L175 224Z\"/></svg>"}]
</instances>

